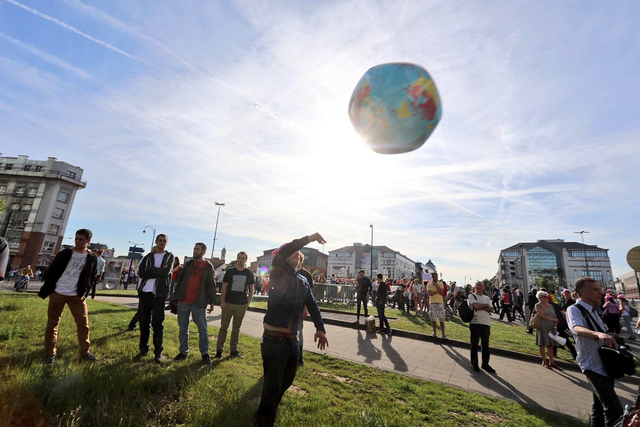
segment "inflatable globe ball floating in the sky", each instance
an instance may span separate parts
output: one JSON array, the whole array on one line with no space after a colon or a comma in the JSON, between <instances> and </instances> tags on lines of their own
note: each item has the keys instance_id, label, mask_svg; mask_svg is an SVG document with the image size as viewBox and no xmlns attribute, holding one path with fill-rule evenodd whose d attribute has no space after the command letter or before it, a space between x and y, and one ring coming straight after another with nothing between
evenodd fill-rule
<instances>
[{"instance_id":1,"label":"inflatable globe ball floating in the sky","mask_svg":"<svg viewBox=\"0 0 640 427\"><path fill-rule=\"evenodd\" d=\"M429 73L415 64L370 68L349 101L351 124L367 145L381 154L420 148L441 116L436 85Z\"/></svg>"}]
</instances>

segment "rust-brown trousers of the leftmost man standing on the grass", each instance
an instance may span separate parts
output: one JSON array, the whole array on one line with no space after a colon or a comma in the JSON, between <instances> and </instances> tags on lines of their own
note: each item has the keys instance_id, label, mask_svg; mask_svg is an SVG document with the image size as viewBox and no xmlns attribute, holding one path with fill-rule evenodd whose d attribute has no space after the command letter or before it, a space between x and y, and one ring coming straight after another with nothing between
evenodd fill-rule
<instances>
[{"instance_id":1,"label":"rust-brown trousers of the leftmost man standing on the grass","mask_svg":"<svg viewBox=\"0 0 640 427\"><path fill-rule=\"evenodd\" d=\"M44 355L51 357L56 355L56 343L58 342L58 326L62 318L64 306L69 306L69 311L76 321L78 329L78 344L80 352L84 355L89 352L91 343L89 341L89 312L87 302L82 296L66 296L54 292L49 297L49 308L47 310L47 328L44 332Z\"/></svg>"}]
</instances>

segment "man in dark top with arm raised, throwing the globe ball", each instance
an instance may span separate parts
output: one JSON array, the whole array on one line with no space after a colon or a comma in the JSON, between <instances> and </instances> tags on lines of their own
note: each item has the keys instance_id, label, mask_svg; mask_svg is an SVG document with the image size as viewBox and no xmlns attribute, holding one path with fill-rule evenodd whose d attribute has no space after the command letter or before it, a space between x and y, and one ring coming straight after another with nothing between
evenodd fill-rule
<instances>
[{"instance_id":1,"label":"man in dark top with arm raised, throwing the globe ball","mask_svg":"<svg viewBox=\"0 0 640 427\"><path fill-rule=\"evenodd\" d=\"M269 280L269 302L264 316L264 333L260 345L264 380L260 405L254 414L255 426L273 426L278 405L291 386L298 368L298 322L304 306L316 327L314 341L324 350L328 345L322 315L309 288L300 279L296 267L300 249L310 242L325 244L319 233L282 245L276 250Z\"/></svg>"}]
</instances>

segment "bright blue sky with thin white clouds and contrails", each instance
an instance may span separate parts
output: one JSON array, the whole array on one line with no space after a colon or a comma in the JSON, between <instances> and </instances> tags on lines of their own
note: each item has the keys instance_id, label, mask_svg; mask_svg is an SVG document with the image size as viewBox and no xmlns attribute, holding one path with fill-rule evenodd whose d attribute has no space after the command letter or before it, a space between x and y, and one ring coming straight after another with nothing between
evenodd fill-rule
<instances>
[{"instance_id":1,"label":"bright blue sky with thin white clouds and contrails","mask_svg":"<svg viewBox=\"0 0 640 427\"><path fill-rule=\"evenodd\" d=\"M374 224L461 283L588 230L619 276L640 245L639 19L637 2L0 0L0 151L83 167L67 235L119 254L148 224L177 255L210 244L217 201L231 259ZM443 117L381 155L347 106L395 61L429 71Z\"/></svg>"}]
</instances>

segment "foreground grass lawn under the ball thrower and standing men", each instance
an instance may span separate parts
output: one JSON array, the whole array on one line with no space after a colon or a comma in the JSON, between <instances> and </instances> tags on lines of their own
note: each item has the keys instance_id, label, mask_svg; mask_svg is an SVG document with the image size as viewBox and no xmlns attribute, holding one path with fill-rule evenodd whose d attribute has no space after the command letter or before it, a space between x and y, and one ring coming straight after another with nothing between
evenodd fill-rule
<instances>
[{"instance_id":1,"label":"foreground grass lawn under the ball thrower and standing men","mask_svg":"<svg viewBox=\"0 0 640 427\"><path fill-rule=\"evenodd\" d=\"M138 332L133 310L88 301L96 362L78 358L76 328L65 309L58 360L42 364L47 301L0 293L0 425L248 426L262 387L260 343L240 337L245 358L200 362L192 324L189 358L131 362ZM209 328L211 349L216 328ZM178 353L175 318L165 320L165 356ZM305 367L279 409L279 426L575 426L573 418L306 353Z\"/></svg>"}]
</instances>

